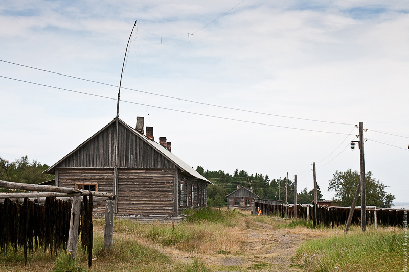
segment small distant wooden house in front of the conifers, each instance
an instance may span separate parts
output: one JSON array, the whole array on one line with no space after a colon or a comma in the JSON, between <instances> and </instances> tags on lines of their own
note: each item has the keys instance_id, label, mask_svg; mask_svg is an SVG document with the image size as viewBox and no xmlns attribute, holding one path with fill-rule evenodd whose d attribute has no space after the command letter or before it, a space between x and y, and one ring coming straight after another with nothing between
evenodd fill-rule
<instances>
[{"instance_id":1,"label":"small distant wooden house in front of the conifers","mask_svg":"<svg viewBox=\"0 0 409 272\"><path fill-rule=\"evenodd\" d=\"M228 209L239 209L239 210L250 210L254 209L254 199L259 199L260 197L253 192L252 187L247 189L245 187L237 186L237 190L226 195L227 197L227 208Z\"/></svg>"}]
</instances>

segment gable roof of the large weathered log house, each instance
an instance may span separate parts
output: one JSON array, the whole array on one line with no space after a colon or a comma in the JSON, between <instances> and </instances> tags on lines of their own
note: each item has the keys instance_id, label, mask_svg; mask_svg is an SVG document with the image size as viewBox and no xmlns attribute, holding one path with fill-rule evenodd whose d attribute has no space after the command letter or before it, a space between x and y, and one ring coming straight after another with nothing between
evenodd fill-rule
<instances>
[{"instance_id":1,"label":"gable roof of the large weathered log house","mask_svg":"<svg viewBox=\"0 0 409 272\"><path fill-rule=\"evenodd\" d=\"M94 138L96 138L99 134L101 134L105 129L107 129L110 125L112 125L114 122L116 121L116 119L113 119L112 121L110 121L108 123L108 125L106 125L105 127L103 127L101 130L99 130L97 133L95 133L93 136L91 136L89 139L87 139L86 141L84 141L83 143L81 143L76 149L74 149L72 152L70 152L69 154L67 154L66 156L64 156L61 160L59 160L58 162L56 162L55 164L53 164L51 167L49 167L46 171L46 173L49 174L53 174L55 172L55 168L62 163L64 160L66 160L67 158L69 158L71 155L73 155L75 152L77 152L78 150L81 149L81 147L83 147L85 144L87 144L88 142L92 141ZM127 123L125 123L124 121L122 121L121 119L118 120L119 123L124 126L128 131L130 131L133 135L137 136L139 139L141 139L144 143L146 143L147 145L149 145L150 147L152 147L156 152L162 154L165 158L167 158L169 161L171 161L177 168L179 168L181 171L183 172L187 172L188 174L190 174L191 176L193 176L194 178L200 179L202 181L206 181L209 184L213 184L211 183L209 180L207 180L205 177L203 177L202 175L200 175L197 171L195 171L192 167L190 167L187 163L185 163L184 161L180 160L178 157L176 157L173 153L171 153L169 150L167 150L165 147L163 147L161 144L151 141L149 140L146 136L142 135L141 133L137 132L135 129L133 129L132 127L130 127L129 125L127 125Z\"/></svg>"}]
</instances>

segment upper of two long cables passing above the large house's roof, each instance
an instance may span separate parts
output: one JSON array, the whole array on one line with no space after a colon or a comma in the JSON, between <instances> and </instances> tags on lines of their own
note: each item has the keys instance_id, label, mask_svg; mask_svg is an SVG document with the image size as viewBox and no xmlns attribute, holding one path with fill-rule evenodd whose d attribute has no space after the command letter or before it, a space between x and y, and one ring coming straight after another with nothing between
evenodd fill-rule
<instances>
[{"instance_id":1,"label":"upper of two long cables passing above the large house's roof","mask_svg":"<svg viewBox=\"0 0 409 272\"><path fill-rule=\"evenodd\" d=\"M31 67L31 66L27 66L27 65L22 65L22 64L18 64L18 63L14 63L14 62L9 62L9 61L5 61L5 60L0 60L0 61L5 62L5 63L9 63L9 64L14 64L14 65L22 66L22 67L26 67L26 68L30 68L30 69L35 69L35 70L43 71L43 72L54 73L55 75L59 75L59 76L64 76L64 77L69 77L69 78L84 80L84 81L88 81L88 82L93 82L93 83L98 83L98 84L102 84L102 85L106 85L106 86L111 86L111 87L116 87L116 88L118 88L117 85L112 85L112 84L107 84L107 83L103 83L103 82L99 82L99 81L94 81L94 80L89 80L89 79L74 77L74 76L70 76L70 75L65 75L65 74L63 74L63 73L58 73L58 72L53 72L53 71L49 71L49 70L44 70L44 69L40 69L40 68L36 68L36 67ZM244 109L239 109L239 108L226 107L226 106L220 106L220 105L215 105L215 104L210 104L210 103L204 103L204 102L198 102L198 101L193 101L193 100L187 100L187 99L185 99L185 98L173 97L173 96L169 96L169 95L157 94L157 93L152 93L152 92L147 92L147 91L141 91L141 90L136 90L136 89L130 89L130 88L125 88L125 87L122 87L122 89L131 90L131 91L136 91L136 92L141 92L141 93L146 93L146 94L151 94L151 95L156 95L156 96L161 96L161 97L166 97L166 98L171 98L171 99L175 99L175 100L179 100L179 101L185 101L185 102L190 102L190 103L196 103L196 104L201 104L201 105L207 105L207 106L212 106L212 107L218 107L218 108L223 108L223 109L229 109L229 110L243 111L243 112L256 113L256 114L269 115L269 116L276 116L276 117L282 117L282 118L298 119L298 120L304 120L304 121L333 123L333 124L336 124L336 125L349 125L349 126L350 126L350 125L354 125L354 124L352 124L352 123L331 122L331 121L324 121L324 120L316 120L316 119L308 119L308 118L300 118L300 117L292 117L292 116L286 116L286 115L271 114L271 113L251 111L251 110L244 110Z\"/></svg>"}]
</instances>

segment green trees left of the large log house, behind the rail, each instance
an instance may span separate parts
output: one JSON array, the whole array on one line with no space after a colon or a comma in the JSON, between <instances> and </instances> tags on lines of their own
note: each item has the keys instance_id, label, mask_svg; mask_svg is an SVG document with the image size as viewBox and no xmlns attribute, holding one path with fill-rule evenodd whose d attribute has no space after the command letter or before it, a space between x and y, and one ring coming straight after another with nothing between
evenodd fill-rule
<instances>
[{"instance_id":1,"label":"green trees left of the large log house, behind the rail","mask_svg":"<svg viewBox=\"0 0 409 272\"><path fill-rule=\"evenodd\" d=\"M38 184L54 179L54 175L42 174L48 167L37 160L30 161L27 156L13 162L0 157L0 180Z\"/></svg>"}]
</instances>

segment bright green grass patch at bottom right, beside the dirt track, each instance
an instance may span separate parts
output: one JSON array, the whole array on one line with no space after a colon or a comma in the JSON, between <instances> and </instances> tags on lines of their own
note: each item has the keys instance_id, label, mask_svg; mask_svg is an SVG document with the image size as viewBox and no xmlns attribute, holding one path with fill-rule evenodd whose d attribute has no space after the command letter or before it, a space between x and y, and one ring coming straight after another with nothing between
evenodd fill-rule
<instances>
[{"instance_id":1,"label":"bright green grass patch at bottom right, beside the dirt track","mask_svg":"<svg viewBox=\"0 0 409 272\"><path fill-rule=\"evenodd\" d=\"M358 228L347 235L305 242L294 262L306 271L402 271L404 236L400 229Z\"/></svg>"}]
</instances>

